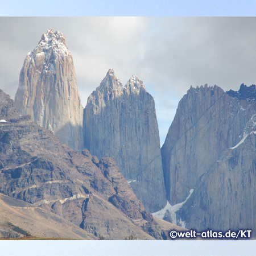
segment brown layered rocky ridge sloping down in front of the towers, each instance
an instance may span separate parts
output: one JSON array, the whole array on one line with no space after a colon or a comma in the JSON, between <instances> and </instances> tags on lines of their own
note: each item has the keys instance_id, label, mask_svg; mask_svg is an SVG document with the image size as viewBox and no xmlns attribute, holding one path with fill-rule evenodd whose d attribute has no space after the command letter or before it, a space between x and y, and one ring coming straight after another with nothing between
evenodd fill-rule
<instances>
[{"instance_id":1,"label":"brown layered rocky ridge sloping down in front of the towers","mask_svg":"<svg viewBox=\"0 0 256 256\"><path fill-rule=\"evenodd\" d=\"M20 115L2 91L0 110L0 193L55 213L94 238L167 236L113 159L61 144L29 115Z\"/></svg>"}]
</instances>

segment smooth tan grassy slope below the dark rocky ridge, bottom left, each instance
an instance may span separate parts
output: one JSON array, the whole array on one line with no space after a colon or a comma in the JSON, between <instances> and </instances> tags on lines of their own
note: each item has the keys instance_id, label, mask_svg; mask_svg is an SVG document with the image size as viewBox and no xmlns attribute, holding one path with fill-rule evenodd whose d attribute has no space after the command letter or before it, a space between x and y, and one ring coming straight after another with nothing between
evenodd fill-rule
<instances>
[{"instance_id":1,"label":"smooth tan grassy slope below the dark rocky ridge, bottom left","mask_svg":"<svg viewBox=\"0 0 256 256\"><path fill-rule=\"evenodd\" d=\"M12 230L8 223L37 237L62 237L79 240L97 239L92 234L60 216L48 212L48 210L0 194L1 233ZM22 234L19 234L19 236L23 237Z\"/></svg>"}]
</instances>

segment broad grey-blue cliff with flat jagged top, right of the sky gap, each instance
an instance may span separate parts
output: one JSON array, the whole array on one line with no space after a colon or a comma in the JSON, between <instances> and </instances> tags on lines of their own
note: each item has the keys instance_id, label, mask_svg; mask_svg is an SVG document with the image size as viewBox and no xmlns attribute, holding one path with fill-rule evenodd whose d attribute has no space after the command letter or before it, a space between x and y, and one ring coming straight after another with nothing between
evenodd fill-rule
<instances>
[{"instance_id":1,"label":"broad grey-blue cliff with flat jagged top, right of the sky gap","mask_svg":"<svg viewBox=\"0 0 256 256\"><path fill-rule=\"evenodd\" d=\"M191 88L162 147L170 203L186 228L255 229L255 85Z\"/></svg>"}]
</instances>

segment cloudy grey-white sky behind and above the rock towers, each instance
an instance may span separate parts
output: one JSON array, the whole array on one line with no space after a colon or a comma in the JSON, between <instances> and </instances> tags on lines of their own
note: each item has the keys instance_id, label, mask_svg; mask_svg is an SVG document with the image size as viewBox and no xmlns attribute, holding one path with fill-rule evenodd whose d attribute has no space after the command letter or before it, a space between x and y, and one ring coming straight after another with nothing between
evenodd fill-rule
<instances>
[{"instance_id":1,"label":"cloudy grey-white sky behind and above the rock towers","mask_svg":"<svg viewBox=\"0 0 256 256\"><path fill-rule=\"evenodd\" d=\"M191 85L256 83L256 18L0 18L0 88L14 98L27 52L48 28L66 36L82 105L109 68L141 79L155 99L164 142Z\"/></svg>"}]
</instances>

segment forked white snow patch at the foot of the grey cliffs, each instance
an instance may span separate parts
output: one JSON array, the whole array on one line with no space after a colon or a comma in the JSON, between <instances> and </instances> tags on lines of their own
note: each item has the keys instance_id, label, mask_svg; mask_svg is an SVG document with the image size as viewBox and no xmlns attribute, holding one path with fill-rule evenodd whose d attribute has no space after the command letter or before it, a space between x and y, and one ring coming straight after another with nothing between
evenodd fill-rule
<instances>
[{"instance_id":1,"label":"forked white snow patch at the foot of the grey cliffs","mask_svg":"<svg viewBox=\"0 0 256 256\"><path fill-rule=\"evenodd\" d=\"M179 204L175 204L175 205L171 205L168 201L166 206L162 209L159 210L158 212L154 212L152 213L153 216L158 217L158 218L164 218L164 216L166 215L167 210L170 212L171 214L171 218L172 218L172 224L177 225L177 220L176 220L176 212L187 202L187 200L189 199L189 197L191 197L192 193L193 193L194 189L190 189L189 191L189 195L187 196L186 200L179 203ZM179 223L181 225L182 228L185 228L185 221L182 221L181 219L179 220Z\"/></svg>"}]
</instances>

